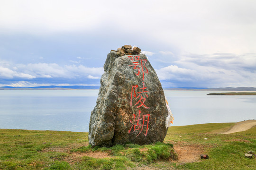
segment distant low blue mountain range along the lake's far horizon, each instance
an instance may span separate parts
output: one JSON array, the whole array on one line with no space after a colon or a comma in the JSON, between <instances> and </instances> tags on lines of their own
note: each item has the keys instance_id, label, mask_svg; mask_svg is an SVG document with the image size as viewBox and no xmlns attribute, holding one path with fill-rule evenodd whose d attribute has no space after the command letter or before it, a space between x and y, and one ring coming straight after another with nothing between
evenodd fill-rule
<instances>
[{"instance_id":1,"label":"distant low blue mountain range along the lake's far horizon","mask_svg":"<svg viewBox=\"0 0 256 170\"><path fill-rule=\"evenodd\" d=\"M37 87L12 87L3 86L0 90L96 90L100 86L83 86L83 85L67 85L67 86L37 86ZM164 90L201 90L201 91L256 91L255 87L221 87L221 88L202 88L202 87L179 87L179 88L164 88Z\"/></svg>"}]
</instances>

